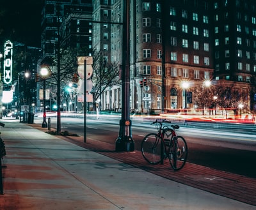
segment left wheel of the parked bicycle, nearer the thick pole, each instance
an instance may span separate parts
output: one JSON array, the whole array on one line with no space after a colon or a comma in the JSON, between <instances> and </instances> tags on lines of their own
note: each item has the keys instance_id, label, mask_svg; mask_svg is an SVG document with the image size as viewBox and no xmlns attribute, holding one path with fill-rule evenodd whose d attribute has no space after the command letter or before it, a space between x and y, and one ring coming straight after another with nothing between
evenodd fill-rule
<instances>
[{"instance_id":1,"label":"left wheel of the parked bicycle, nearer the thick pole","mask_svg":"<svg viewBox=\"0 0 256 210\"><path fill-rule=\"evenodd\" d=\"M156 133L146 135L141 142L141 153L148 163L157 164L161 162L163 159L161 149L164 149L164 145ZM164 153L164 150L162 152Z\"/></svg>"}]
</instances>

